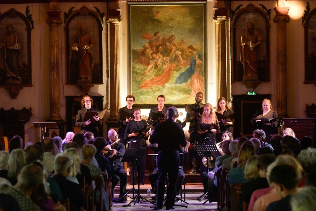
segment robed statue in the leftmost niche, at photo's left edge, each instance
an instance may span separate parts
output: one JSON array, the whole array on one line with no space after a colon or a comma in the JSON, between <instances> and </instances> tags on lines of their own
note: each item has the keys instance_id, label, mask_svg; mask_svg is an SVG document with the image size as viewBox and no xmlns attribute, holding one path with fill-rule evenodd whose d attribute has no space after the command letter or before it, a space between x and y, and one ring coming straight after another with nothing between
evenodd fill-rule
<instances>
[{"instance_id":1,"label":"robed statue in the leftmost niche, at photo's left edge","mask_svg":"<svg viewBox=\"0 0 316 211\"><path fill-rule=\"evenodd\" d=\"M7 25L7 34L4 35L0 48L2 48L5 62L5 84L21 84L20 44L17 35L14 33L13 25Z\"/></svg>"}]
</instances>

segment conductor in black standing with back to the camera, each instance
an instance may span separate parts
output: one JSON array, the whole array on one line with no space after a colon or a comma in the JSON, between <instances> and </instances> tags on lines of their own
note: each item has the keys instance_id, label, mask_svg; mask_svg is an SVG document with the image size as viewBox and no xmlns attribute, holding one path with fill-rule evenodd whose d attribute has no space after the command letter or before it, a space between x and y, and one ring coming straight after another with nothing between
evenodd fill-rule
<instances>
[{"instance_id":1,"label":"conductor in black standing with back to the camera","mask_svg":"<svg viewBox=\"0 0 316 211\"><path fill-rule=\"evenodd\" d=\"M158 188L157 206L154 209L162 209L166 175L169 176L167 189L166 210L174 209L176 196L176 180L179 169L180 145L185 147L184 132L179 124L174 122L177 109L170 107L167 110L167 120L159 123L153 133L153 141L158 143Z\"/></svg>"}]
</instances>

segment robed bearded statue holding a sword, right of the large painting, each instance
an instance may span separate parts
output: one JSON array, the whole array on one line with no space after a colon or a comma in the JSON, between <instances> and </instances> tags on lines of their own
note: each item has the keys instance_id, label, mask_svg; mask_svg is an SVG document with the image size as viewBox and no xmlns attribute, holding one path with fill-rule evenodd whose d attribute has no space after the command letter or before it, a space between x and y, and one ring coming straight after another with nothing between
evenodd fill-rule
<instances>
[{"instance_id":1,"label":"robed bearded statue holding a sword, right of the large painting","mask_svg":"<svg viewBox=\"0 0 316 211\"><path fill-rule=\"evenodd\" d=\"M241 36L240 61L244 67L243 81L258 81L257 50L262 37L254 30L253 22L247 22L247 30Z\"/></svg>"}]
</instances>

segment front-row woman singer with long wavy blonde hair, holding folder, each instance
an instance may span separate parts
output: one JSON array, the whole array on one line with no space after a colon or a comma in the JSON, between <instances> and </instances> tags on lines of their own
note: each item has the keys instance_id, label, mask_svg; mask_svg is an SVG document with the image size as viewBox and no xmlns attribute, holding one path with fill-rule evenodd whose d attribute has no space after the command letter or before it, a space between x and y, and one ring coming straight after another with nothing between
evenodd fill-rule
<instances>
[{"instance_id":1,"label":"front-row woman singer with long wavy blonde hair, holding folder","mask_svg":"<svg viewBox=\"0 0 316 211\"><path fill-rule=\"evenodd\" d=\"M215 133L221 133L219 121L217 120L215 111L210 103L205 103L203 106L204 112L198 120L198 133L201 134L201 140L219 142L216 140Z\"/></svg>"}]
</instances>

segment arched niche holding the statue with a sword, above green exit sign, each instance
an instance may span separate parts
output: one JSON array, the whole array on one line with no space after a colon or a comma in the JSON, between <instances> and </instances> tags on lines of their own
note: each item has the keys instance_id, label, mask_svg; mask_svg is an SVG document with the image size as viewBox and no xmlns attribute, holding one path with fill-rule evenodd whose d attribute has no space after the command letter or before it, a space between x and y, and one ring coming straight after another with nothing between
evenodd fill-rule
<instances>
[{"instance_id":1,"label":"arched niche holding the statue with a sword, above green exit sign","mask_svg":"<svg viewBox=\"0 0 316 211\"><path fill-rule=\"evenodd\" d=\"M269 22L264 10L249 4L232 24L233 81L269 81Z\"/></svg>"}]
</instances>

